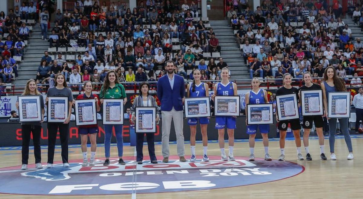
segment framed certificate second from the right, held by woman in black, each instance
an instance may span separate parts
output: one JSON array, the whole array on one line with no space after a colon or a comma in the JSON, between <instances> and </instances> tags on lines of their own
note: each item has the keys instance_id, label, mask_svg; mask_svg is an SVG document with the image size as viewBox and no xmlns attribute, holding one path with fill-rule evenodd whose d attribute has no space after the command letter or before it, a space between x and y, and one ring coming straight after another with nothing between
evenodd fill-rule
<instances>
[{"instance_id":1,"label":"framed certificate second from the right, held by woman in black","mask_svg":"<svg viewBox=\"0 0 363 199\"><path fill-rule=\"evenodd\" d=\"M323 115L323 91L301 90L302 116Z\"/></svg>"}]
</instances>

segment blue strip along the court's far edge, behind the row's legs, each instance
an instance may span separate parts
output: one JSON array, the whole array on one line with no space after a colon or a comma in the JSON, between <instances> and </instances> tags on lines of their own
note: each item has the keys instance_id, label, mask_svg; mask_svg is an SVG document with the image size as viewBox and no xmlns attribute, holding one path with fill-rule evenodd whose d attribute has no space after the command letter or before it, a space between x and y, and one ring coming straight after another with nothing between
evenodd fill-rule
<instances>
[{"instance_id":1,"label":"blue strip along the court's far edge, behind the row's legs","mask_svg":"<svg viewBox=\"0 0 363 199\"><path fill-rule=\"evenodd\" d=\"M350 135L350 137L352 139L356 139L356 138L363 138L363 135ZM329 136L324 136L325 140L329 139ZM309 140L318 140L318 136L310 136ZM335 136L335 139L344 139L343 135L337 135ZM262 142L262 138L256 138L255 139L256 142ZM273 141L279 141L280 138L269 138L270 142ZM295 140L294 137L286 137L286 140L292 141ZM228 140L224 140L224 142L228 142ZM248 139L234 139L234 142L248 142ZM202 143L201 140L196 140L196 143ZM208 140L208 143L218 143L218 140ZM144 144L147 144L147 142L144 142ZM155 142L155 145L161 145L162 142L158 141ZM176 144L176 141L170 141L169 144ZM184 141L184 144L190 144L190 141ZM91 144L87 144L87 147L90 147ZM97 144L97 147L102 147L105 146L104 144ZM111 146L117 146L116 143L111 143ZM124 142L123 146L130 146L130 142ZM80 144L73 144L73 145L69 145L68 148L80 148L81 145ZM48 145L43 145L40 146L41 149L48 149ZM33 150L34 146L29 146L29 150ZM61 149L61 145L56 145L56 149ZM0 151L2 150L21 150L21 146L3 146L0 147ZM57 153L57 152L56 152Z\"/></svg>"}]
</instances>

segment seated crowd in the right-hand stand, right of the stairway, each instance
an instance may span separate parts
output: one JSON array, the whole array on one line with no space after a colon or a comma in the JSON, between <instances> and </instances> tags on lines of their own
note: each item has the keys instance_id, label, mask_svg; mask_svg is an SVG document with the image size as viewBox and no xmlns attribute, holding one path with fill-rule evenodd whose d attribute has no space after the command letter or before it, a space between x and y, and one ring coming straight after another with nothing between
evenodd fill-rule
<instances>
[{"instance_id":1,"label":"seated crowd in the right-hand stand, right of the stairway","mask_svg":"<svg viewBox=\"0 0 363 199\"><path fill-rule=\"evenodd\" d=\"M262 1L254 12L244 2L227 1L227 17L251 78L282 78L285 72L302 78L306 71L322 77L330 65L342 77L363 75L363 42L340 18L337 0ZM357 25L362 11L357 5L352 13Z\"/></svg>"}]
</instances>

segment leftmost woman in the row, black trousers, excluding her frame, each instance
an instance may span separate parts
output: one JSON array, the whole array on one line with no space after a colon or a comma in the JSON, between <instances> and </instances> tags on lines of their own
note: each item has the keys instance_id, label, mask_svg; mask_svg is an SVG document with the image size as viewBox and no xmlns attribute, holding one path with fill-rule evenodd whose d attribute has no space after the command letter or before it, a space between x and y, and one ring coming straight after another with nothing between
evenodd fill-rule
<instances>
[{"instance_id":1,"label":"leftmost woman in the row, black trousers, excluding her frame","mask_svg":"<svg viewBox=\"0 0 363 199\"><path fill-rule=\"evenodd\" d=\"M26 86L23 94L21 96L36 95L40 98L40 108L41 108L41 121L40 122L22 122L21 123L21 137L23 138L21 146L21 170L28 169L28 159L29 159L29 142L30 133L33 135L34 144L34 157L35 157L35 167L37 169L42 169L41 164L41 153L40 153L40 133L42 130L42 123L44 119L44 100L43 95L38 92L37 83L34 79L29 79L26 82ZM19 101L15 103L16 109L19 110Z\"/></svg>"}]
</instances>

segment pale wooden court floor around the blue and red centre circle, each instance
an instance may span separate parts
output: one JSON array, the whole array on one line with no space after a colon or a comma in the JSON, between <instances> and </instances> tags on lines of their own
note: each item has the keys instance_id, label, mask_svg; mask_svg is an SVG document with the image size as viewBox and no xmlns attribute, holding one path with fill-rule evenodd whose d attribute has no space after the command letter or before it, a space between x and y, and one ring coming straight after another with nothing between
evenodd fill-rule
<instances>
[{"instance_id":1,"label":"pale wooden court floor around the blue and red centre circle","mask_svg":"<svg viewBox=\"0 0 363 199\"><path fill-rule=\"evenodd\" d=\"M277 159L280 155L278 141L270 142L270 155ZM347 160L347 147L344 139L337 139L335 142L335 153L337 161L330 160L329 142L325 140L325 153L327 161L319 159L318 140L310 141L310 154L313 161L298 161L294 141L286 141L286 160L296 162L305 167L305 171L297 176L282 179L279 181L261 183L256 185L220 188L203 191L166 192L156 194L138 194L136 198L363 198L363 138L352 139L354 149L354 160ZM197 149L201 145L197 144ZM227 145L226 145L227 148ZM147 155L147 151L144 151ZM156 154L161 155L161 145L156 145ZM171 153L176 154L176 145L170 145ZM42 158L46 159L46 150L42 151ZM56 150L59 151L59 150ZM81 159L80 148L72 148L69 159ZM111 148L111 156L117 156L115 147ZM14 155L4 155L7 153ZM198 151L197 151L198 153ZM199 151L201 153L201 151ZM185 144L186 158L189 158L189 145ZM256 142L255 155L263 157L264 149L262 142ZM302 147L302 154L305 151ZM103 147L97 149L97 157L103 155ZM126 146L124 156L133 156L134 148ZM208 155L220 155L217 144L209 144ZM249 156L248 142L238 142L234 147L234 156ZM30 159L33 160L32 150ZM56 153L56 160L60 160L60 153ZM44 161L43 161L44 162ZM0 167L20 165L20 150L0 151ZM26 183L26 182L24 182ZM112 182L110 182L112 183ZM1 185L0 185L1 186ZM21 185L19 185L21 188ZM41 188L41 187L40 187ZM131 198L130 195L94 195L94 196L32 196L32 195L9 195L0 194L0 198Z\"/></svg>"}]
</instances>

